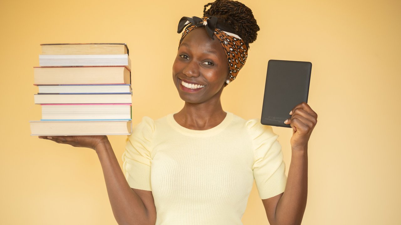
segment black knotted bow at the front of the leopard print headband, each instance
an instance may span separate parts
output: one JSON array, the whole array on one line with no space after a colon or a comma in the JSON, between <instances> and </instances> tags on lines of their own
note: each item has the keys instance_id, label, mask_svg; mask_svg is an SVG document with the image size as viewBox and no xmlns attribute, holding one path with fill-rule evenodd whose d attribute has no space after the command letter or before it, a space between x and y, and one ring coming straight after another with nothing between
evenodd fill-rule
<instances>
[{"instance_id":1,"label":"black knotted bow at the front of the leopard print headband","mask_svg":"<svg viewBox=\"0 0 401 225\"><path fill-rule=\"evenodd\" d=\"M180 22L178 22L177 33L181 33L187 24L189 24L188 26L192 26L192 25L205 26L206 32L209 35L209 37L212 38L212 40L215 40L215 38L213 38L213 34L215 33L215 29L217 26L217 17L211 16L211 17L205 17L204 19L201 19L196 16L192 16L192 17L184 16L180 19Z\"/></svg>"}]
</instances>

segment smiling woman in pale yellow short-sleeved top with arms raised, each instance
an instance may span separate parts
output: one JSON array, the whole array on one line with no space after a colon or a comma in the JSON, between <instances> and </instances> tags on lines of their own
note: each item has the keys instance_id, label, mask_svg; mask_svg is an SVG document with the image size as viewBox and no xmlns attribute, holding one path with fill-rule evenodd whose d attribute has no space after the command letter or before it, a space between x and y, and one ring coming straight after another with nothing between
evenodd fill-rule
<instances>
[{"instance_id":1,"label":"smiling woman in pale yellow short-sleeved top with arms raised","mask_svg":"<svg viewBox=\"0 0 401 225\"><path fill-rule=\"evenodd\" d=\"M300 224L316 113L302 103L285 122L293 129L286 179L271 127L225 112L220 102L256 39L251 10L217 0L202 19L183 17L179 32L185 26L172 68L184 107L137 125L123 155L125 176L107 136L40 138L96 151L119 224L241 224L253 179L271 225Z\"/></svg>"}]
</instances>

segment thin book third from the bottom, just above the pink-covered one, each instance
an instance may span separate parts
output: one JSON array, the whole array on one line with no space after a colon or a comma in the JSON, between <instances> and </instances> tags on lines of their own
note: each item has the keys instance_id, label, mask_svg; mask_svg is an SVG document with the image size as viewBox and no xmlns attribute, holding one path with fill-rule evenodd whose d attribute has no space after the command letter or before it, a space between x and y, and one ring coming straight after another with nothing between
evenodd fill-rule
<instances>
[{"instance_id":1,"label":"thin book third from the bottom, just above the pink-covered one","mask_svg":"<svg viewBox=\"0 0 401 225\"><path fill-rule=\"evenodd\" d=\"M132 103L131 94L35 94L35 104Z\"/></svg>"}]
</instances>

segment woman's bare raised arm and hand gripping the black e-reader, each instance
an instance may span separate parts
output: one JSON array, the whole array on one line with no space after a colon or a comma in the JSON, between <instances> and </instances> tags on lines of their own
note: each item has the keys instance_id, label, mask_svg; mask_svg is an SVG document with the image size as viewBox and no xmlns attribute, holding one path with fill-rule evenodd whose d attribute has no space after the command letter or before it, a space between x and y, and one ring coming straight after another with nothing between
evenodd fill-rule
<instances>
[{"instance_id":1,"label":"woman's bare raised arm and hand gripping the black e-reader","mask_svg":"<svg viewBox=\"0 0 401 225\"><path fill-rule=\"evenodd\" d=\"M318 115L302 102L294 107L286 121L293 129L291 163L284 193L262 199L271 225L301 224L308 196L308 141Z\"/></svg>"}]
</instances>

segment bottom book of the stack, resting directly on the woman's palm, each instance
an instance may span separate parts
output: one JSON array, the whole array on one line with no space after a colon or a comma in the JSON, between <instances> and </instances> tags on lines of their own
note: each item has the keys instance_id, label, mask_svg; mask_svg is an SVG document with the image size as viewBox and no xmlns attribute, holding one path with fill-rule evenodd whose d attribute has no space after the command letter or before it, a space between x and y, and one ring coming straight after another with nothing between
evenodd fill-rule
<instances>
[{"instance_id":1,"label":"bottom book of the stack, resting directly on the woman's palm","mask_svg":"<svg viewBox=\"0 0 401 225\"><path fill-rule=\"evenodd\" d=\"M131 121L29 121L31 136L130 135Z\"/></svg>"}]
</instances>

